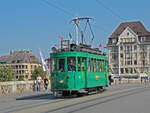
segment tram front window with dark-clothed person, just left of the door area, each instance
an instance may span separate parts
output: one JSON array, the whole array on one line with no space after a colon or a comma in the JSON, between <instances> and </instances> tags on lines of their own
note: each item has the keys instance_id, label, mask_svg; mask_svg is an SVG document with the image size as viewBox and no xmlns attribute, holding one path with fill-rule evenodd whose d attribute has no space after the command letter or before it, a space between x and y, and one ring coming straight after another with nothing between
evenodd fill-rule
<instances>
[{"instance_id":1,"label":"tram front window with dark-clothed person, just left of the door area","mask_svg":"<svg viewBox=\"0 0 150 113\"><path fill-rule=\"evenodd\" d=\"M75 57L68 57L67 61L68 71L75 72L76 71L76 59Z\"/></svg>"}]
</instances>

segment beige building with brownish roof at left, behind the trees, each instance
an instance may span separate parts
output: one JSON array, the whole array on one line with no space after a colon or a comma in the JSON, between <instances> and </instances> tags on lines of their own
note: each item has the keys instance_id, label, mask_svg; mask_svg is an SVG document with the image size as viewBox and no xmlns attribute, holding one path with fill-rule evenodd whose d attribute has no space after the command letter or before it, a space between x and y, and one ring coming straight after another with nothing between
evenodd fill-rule
<instances>
[{"instance_id":1,"label":"beige building with brownish roof at left, behind the trees","mask_svg":"<svg viewBox=\"0 0 150 113\"><path fill-rule=\"evenodd\" d=\"M16 73L16 80L23 76L24 79L31 79L35 68L41 66L39 59L29 51L14 51L8 56L0 57L0 65L11 66Z\"/></svg>"}]
</instances>

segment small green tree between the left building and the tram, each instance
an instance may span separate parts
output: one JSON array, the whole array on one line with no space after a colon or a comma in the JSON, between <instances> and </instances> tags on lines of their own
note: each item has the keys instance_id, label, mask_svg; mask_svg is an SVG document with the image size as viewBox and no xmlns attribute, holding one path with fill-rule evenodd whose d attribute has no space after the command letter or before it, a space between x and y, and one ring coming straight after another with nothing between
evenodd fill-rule
<instances>
[{"instance_id":1,"label":"small green tree between the left building and the tram","mask_svg":"<svg viewBox=\"0 0 150 113\"><path fill-rule=\"evenodd\" d=\"M43 71L41 66L35 68L32 76L31 76L32 80L36 80L38 75L40 75L42 77L42 79L44 79L44 76L46 75L46 73Z\"/></svg>"}]
</instances>

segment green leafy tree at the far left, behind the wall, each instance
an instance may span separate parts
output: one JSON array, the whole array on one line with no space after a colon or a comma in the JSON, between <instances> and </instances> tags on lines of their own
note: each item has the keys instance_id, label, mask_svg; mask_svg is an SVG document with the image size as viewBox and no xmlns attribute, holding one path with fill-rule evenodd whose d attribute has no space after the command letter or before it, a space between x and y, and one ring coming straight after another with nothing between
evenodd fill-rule
<instances>
[{"instance_id":1,"label":"green leafy tree at the far left, behind the wall","mask_svg":"<svg viewBox=\"0 0 150 113\"><path fill-rule=\"evenodd\" d=\"M15 73L10 66L0 66L0 82L12 81L14 75Z\"/></svg>"}]
</instances>

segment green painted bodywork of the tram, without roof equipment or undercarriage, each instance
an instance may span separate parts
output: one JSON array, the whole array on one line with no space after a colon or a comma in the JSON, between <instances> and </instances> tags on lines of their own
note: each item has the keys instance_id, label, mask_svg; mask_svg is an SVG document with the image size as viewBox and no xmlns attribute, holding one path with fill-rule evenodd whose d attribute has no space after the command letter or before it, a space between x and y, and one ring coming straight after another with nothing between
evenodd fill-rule
<instances>
[{"instance_id":1,"label":"green painted bodywork of the tram, without roof equipment or undercarriage","mask_svg":"<svg viewBox=\"0 0 150 113\"><path fill-rule=\"evenodd\" d=\"M83 52L55 53L51 54L51 57L56 59L56 71L51 73L52 91L80 90L108 86L109 84L106 57ZM75 69L72 72L68 69L68 58L75 59ZM93 64L90 64L89 59L93 59ZM103 60L103 65L98 64L101 63L101 60ZM64 61L64 64L61 61ZM78 66L79 62L81 62L80 66ZM63 72L59 72L60 64L64 67ZM99 69L100 65L103 69ZM93 72L89 66L93 69ZM96 68L98 70L95 70Z\"/></svg>"}]
</instances>

